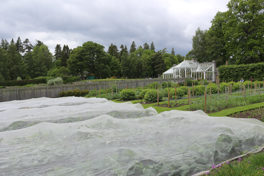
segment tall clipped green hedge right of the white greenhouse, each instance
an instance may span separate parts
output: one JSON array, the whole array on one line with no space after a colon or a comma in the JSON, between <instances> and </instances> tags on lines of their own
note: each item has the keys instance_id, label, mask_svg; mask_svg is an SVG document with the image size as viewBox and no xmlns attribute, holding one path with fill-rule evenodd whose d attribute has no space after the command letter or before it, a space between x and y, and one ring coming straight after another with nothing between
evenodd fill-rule
<instances>
[{"instance_id":1,"label":"tall clipped green hedge right of the white greenhouse","mask_svg":"<svg viewBox=\"0 0 264 176\"><path fill-rule=\"evenodd\" d=\"M256 63L256 64L242 64L242 65L222 65L219 66L219 79L234 81L240 80L243 78L244 80L249 80L250 77L253 80L262 81L264 77L264 63Z\"/></svg>"}]
</instances>

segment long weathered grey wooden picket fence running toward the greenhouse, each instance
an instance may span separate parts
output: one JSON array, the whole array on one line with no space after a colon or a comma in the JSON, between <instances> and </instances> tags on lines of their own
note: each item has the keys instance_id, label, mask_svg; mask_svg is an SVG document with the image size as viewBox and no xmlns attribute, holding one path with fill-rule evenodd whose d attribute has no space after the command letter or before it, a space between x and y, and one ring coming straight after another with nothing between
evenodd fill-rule
<instances>
[{"instance_id":1,"label":"long weathered grey wooden picket fence running toward the greenhouse","mask_svg":"<svg viewBox=\"0 0 264 176\"><path fill-rule=\"evenodd\" d=\"M127 86L141 87L151 84L153 82L158 82L159 84L163 82L174 81L174 82L184 82L185 78L165 78L165 79L144 79L144 80L124 80L124 81L105 81L105 82L91 82L91 83L79 83L79 84L66 84L66 85L53 85L53 86L43 86L43 87L22 87L22 88L3 88L0 89L0 102L13 101L13 100L25 100L31 98L41 98L48 97L54 98L58 97L59 93L62 91L70 91L74 89L83 90L93 90L93 89L106 89L111 88L111 86L116 85L118 89L125 89Z\"/></svg>"}]
</instances>

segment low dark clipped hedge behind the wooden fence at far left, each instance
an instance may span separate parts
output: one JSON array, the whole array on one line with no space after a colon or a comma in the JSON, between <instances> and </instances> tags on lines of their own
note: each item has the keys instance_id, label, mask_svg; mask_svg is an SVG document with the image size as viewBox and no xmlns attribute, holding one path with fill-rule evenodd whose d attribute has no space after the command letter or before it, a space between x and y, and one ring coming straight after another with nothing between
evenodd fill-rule
<instances>
[{"instance_id":1,"label":"low dark clipped hedge behind the wooden fence at far left","mask_svg":"<svg viewBox=\"0 0 264 176\"><path fill-rule=\"evenodd\" d=\"M16 80L16 81L1 81L0 86L23 86L27 84L45 84L46 79L29 79L29 80Z\"/></svg>"}]
</instances>

